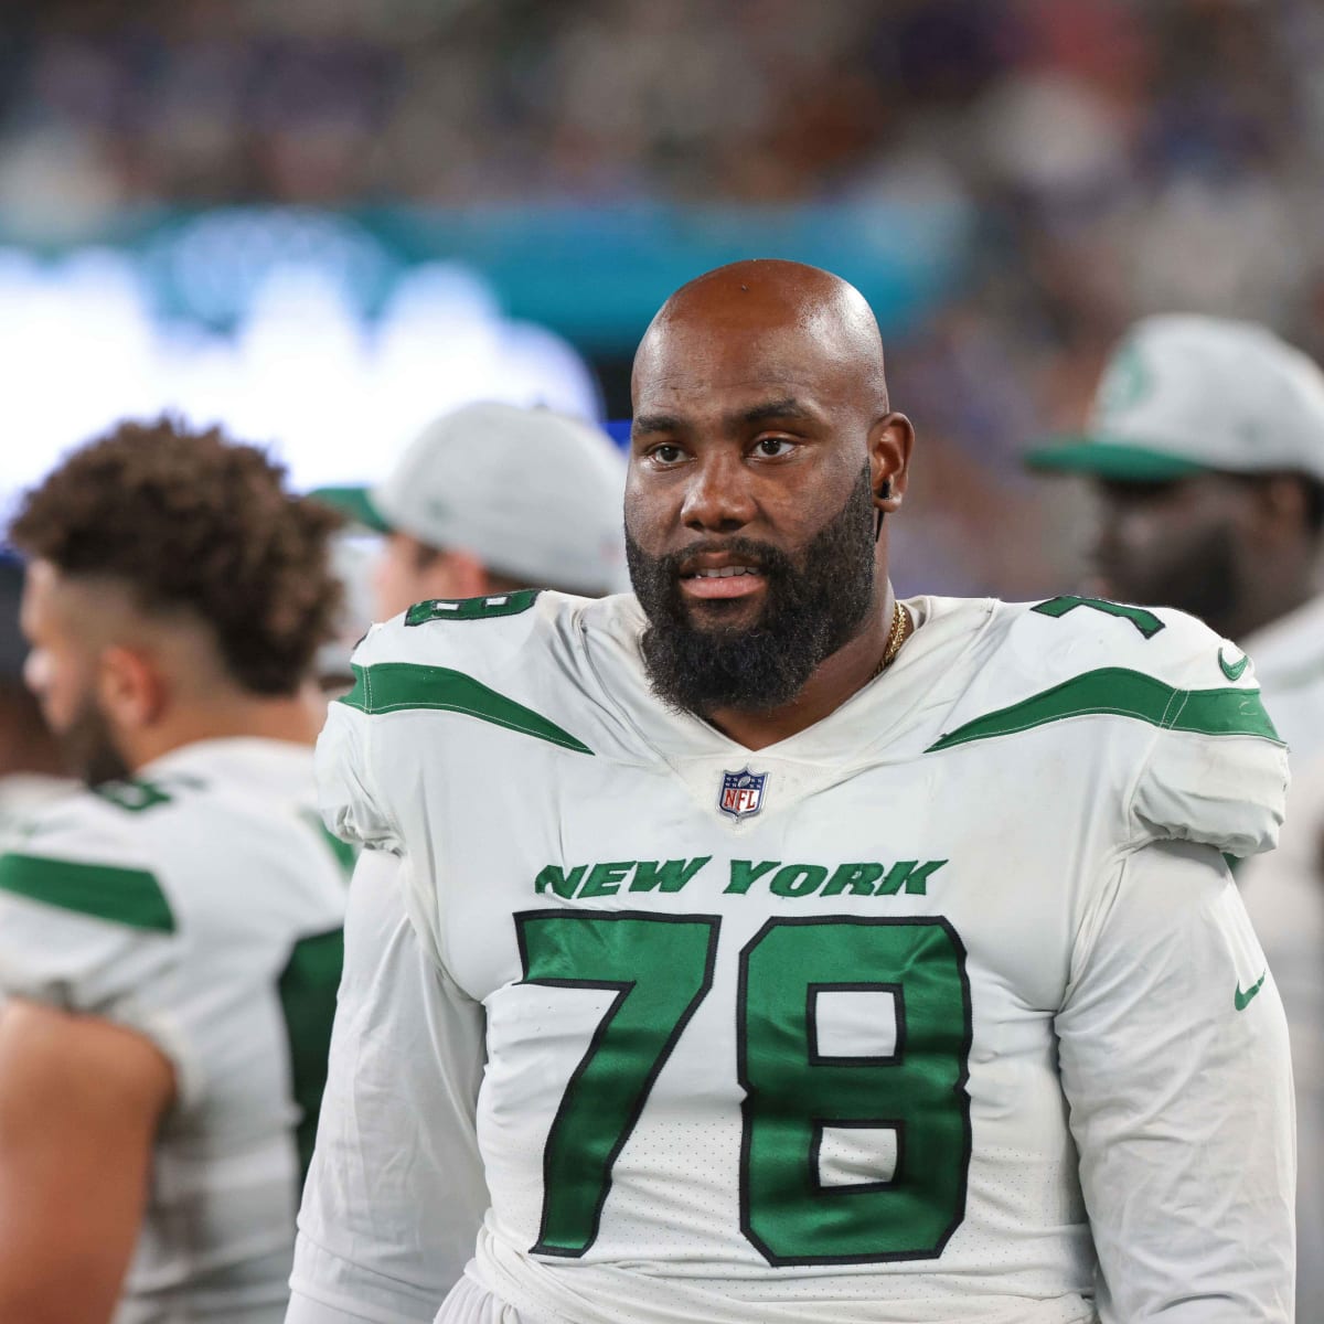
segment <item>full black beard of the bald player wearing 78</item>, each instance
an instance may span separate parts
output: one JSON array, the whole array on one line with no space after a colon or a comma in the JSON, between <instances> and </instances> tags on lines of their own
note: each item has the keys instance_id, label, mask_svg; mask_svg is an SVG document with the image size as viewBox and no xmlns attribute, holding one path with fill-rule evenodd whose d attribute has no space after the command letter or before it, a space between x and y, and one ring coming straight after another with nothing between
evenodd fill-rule
<instances>
[{"instance_id":1,"label":"full black beard of the bald player wearing 78","mask_svg":"<svg viewBox=\"0 0 1324 1324\"><path fill-rule=\"evenodd\" d=\"M854 638L874 605L874 494L869 469L846 504L796 556L752 538L711 539L650 556L625 534L634 594L649 618L643 663L667 707L699 716L722 708L771 712L793 702L821 662ZM702 551L756 564L765 601L748 626L694 625L681 567Z\"/></svg>"}]
</instances>

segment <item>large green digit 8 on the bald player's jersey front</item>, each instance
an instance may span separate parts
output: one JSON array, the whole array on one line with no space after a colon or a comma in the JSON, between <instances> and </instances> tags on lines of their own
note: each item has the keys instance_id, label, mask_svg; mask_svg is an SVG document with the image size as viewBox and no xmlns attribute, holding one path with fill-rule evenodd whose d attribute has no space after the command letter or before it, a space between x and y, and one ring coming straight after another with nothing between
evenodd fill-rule
<instances>
[{"instance_id":1,"label":"large green digit 8 on the bald player's jersey front","mask_svg":"<svg viewBox=\"0 0 1324 1324\"><path fill-rule=\"evenodd\" d=\"M874 976L859 980L859 972ZM818 1049L822 990L890 992L886 1058ZM973 1039L965 947L941 918L772 919L740 952L740 1230L769 1264L936 1259L965 1217ZM891 1180L824 1186L824 1131L891 1129Z\"/></svg>"}]
</instances>

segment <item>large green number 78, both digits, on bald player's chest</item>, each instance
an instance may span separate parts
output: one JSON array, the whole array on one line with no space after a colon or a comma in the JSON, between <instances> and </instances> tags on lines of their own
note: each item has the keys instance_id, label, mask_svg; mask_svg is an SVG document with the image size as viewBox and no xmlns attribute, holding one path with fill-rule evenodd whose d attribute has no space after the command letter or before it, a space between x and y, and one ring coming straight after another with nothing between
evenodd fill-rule
<instances>
[{"instance_id":1,"label":"large green number 78, both digits, on bald player's chest","mask_svg":"<svg viewBox=\"0 0 1324 1324\"><path fill-rule=\"evenodd\" d=\"M532 1254L597 1238L612 1168L712 986L720 919L637 911L515 916L524 982L613 989L543 1152ZM861 970L873 976L861 980ZM587 973L585 973L587 972ZM821 1051L817 998L887 992L891 1054ZM936 1259L965 1217L973 1039L965 947L943 918L772 919L740 952L740 1230L773 1266ZM890 1129L886 1181L824 1185L828 1128Z\"/></svg>"}]
</instances>

